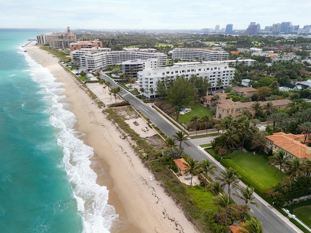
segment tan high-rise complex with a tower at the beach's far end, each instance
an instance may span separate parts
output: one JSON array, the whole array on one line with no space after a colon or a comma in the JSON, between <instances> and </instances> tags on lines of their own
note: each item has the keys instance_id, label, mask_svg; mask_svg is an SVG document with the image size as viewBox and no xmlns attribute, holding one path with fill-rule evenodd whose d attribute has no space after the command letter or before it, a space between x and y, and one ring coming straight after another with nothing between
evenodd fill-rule
<instances>
[{"instance_id":1,"label":"tan high-rise complex with a tower at the beach's far end","mask_svg":"<svg viewBox=\"0 0 311 233\"><path fill-rule=\"evenodd\" d=\"M75 34L67 28L67 33L40 34L36 36L38 45L49 45L54 49L68 49L70 43L77 41Z\"/></svg>"}]
</instances>

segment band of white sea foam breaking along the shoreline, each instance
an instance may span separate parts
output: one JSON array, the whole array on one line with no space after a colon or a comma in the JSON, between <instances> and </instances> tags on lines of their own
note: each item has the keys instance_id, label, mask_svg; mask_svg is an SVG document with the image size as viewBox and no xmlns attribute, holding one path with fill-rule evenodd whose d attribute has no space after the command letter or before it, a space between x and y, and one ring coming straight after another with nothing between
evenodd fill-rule
<instances>
[{"instance_id":1,"label":"band of white sea foam breaking along the shoreline","mask_svg":"<svg viewBox=\"0 0 311 233\"><path fill-rule=\"evenodd\" d=\"M57 142L64 152L61 166L67 171L73 196L77 201L77 210L84 221L83 232L109 233L118 215L115 208L107 204L108 190L96 183L97 175L90 168L89 158L93 156L93 148L77 138L81 132L72 129L76 122L74 114L58 102L65 98L59 96L64 91L60 88L62 83L55 83L55 78L48 69L35 63L28 55L25 57L31 67L33 79L43 87L41 92L45 94L45 100L50 106L50 123L58 129Z\"/></svg>"}]
</instances>

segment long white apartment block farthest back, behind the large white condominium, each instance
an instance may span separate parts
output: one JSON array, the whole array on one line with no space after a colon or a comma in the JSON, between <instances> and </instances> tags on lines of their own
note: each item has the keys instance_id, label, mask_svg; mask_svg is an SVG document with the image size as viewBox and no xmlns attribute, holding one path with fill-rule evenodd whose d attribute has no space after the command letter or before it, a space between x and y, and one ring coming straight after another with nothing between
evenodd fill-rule
<instances>
[{"instance_id":1,"label":"long white apartment block farthest back, behind the large white condominium","mask_svg":"<svg viewBox=\"0 0 311 233\"><path fill-rule=\"evenodd\" d=\"M176 48L171 51L172 59L180 59L182 61L219 61L227 60L229 53L222 48L214 49L189 49L189 48Z\"/></svg>"}]
</instances>

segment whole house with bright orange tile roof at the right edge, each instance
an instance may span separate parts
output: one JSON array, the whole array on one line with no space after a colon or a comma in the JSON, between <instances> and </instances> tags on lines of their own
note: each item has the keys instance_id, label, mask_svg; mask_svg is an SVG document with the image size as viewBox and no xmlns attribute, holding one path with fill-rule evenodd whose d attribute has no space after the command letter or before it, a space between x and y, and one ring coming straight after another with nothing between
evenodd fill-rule
<instances>
[{"instance_id":1,"label":"whole house with bright orange tile roof at the right edge","mask_svg":"<svg viewBox=\"0 0 311 233\"><path fill-rule=\"evenodd\" d=\"M302 144L301 141L303 134L292 134L292 133L274 133L266 136L266 145L264 152L269 153L270 150L277 152L278 150L284 150L285 156L293 156L303 159L311 159L311 147Z\"/></svg>"}]
</instances>

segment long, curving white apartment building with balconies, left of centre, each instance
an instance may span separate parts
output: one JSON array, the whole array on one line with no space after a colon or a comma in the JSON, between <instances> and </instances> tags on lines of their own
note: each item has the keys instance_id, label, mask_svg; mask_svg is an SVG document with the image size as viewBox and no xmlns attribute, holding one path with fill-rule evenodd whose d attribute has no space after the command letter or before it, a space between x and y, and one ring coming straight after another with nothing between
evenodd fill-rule
<instances>
[{"instance_id":1,"label":"long, curving white apartment building with balconies, left of centre","mask_svg":"<svg viewBox=\"0 0 311 233\"><path fill-rule=\"evenodd\" d=\"M73 65L80 66L85 70L100 70L109 65L121 64L128 60L157 59L157 66L167 65L167 55L162 52L151 52L145 50L122 50L111 51L111 49L81 49L70 52Z\"/></svg>"}]
</instances>

